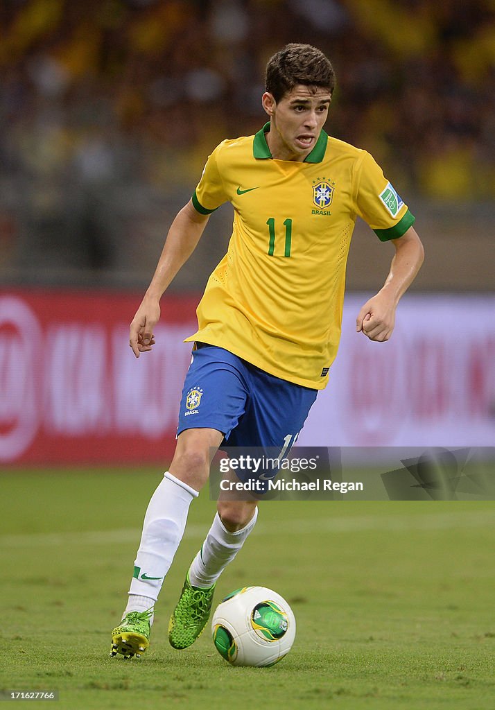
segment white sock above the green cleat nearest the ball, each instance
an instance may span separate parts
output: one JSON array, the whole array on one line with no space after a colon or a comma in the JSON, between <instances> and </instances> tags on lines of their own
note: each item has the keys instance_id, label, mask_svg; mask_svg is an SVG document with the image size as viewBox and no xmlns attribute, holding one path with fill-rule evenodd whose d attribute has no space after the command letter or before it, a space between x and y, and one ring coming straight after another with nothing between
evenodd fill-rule
<instances>
[{"instance_id":1,"label":"white sock above the green cleat nearest the ball","mask_svg":"<svg viewBox=\"0 0 495 710\"><path fill-rule=\"evenodd\" d=\"M219 514L215 515L205 542L189 568L189 581L192 586L206 589L217 581L227 564L232 562L244 545L246 537L254 528L256 518L258 518L258 508L245 528L229 532L220 520Z\"/></svg>"}]
</instances>

